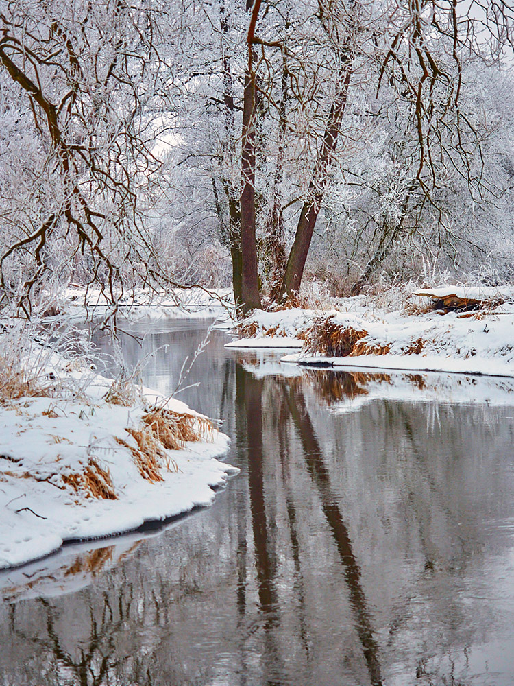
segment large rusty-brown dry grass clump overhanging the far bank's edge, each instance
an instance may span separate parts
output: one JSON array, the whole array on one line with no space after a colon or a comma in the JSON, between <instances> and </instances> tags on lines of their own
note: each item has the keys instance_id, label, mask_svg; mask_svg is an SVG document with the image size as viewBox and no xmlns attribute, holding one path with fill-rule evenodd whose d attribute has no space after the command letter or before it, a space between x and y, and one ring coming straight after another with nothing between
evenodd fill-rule
<instances>
[{"instance_id":1,"label":"large rusty-brown dry grass clump overhanging the far bank's edge","mask_svg":"<svg viewBox=\"0 0 514 686\"><path fill-rule=\"evenodd\" d=\"M368 335L367 331L356 331L352 327L336 324L331 317L317 318L302 333L304 353L324 357L347 357L352 354L356 343Z\"/></svg>"}]
</instances>

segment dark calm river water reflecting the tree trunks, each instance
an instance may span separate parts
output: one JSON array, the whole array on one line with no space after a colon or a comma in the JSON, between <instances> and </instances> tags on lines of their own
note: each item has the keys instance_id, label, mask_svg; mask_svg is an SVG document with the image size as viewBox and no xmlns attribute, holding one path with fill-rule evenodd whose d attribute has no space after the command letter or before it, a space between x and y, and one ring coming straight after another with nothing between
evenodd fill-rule
<instances>
[{"instance_id":1,"label":"dark calm river water reflecting the tree trunks","mask_svg":"<svg viewBox=\"0 0 514 686\"><path fill-rule=\"evenodd\" d=\"M170 344L143 372L169 392L205 328L142 322L123 353ZM513 381L302 371L226 340L178 397L223 420L241 474L164 530L4 572L0 684L513 684Z\"/></svg>"}]
</instances>

